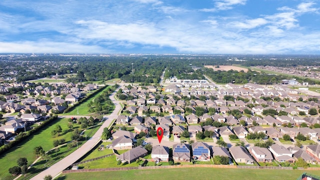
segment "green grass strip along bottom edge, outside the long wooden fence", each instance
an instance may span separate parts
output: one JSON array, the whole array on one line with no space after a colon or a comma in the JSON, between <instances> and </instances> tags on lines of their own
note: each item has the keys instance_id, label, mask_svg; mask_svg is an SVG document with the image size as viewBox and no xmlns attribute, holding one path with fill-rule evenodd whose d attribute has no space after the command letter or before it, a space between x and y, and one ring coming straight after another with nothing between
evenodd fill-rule
<instances>
[{"instance_id":1,"label":"green grass strip along bottom edge, outside the long wooden fence","mask_svg":"<svg viewBox=\"0 0 320 180\"><path fill-rule=\"evenodd\" d=\"M108 172L77 172L61 174L57 179L296 179L303 172L320 175L320 171L275 170L275 169L232 169L232 168L170 168L150 170L125 170Z\"/></svg>"}]
</instances>

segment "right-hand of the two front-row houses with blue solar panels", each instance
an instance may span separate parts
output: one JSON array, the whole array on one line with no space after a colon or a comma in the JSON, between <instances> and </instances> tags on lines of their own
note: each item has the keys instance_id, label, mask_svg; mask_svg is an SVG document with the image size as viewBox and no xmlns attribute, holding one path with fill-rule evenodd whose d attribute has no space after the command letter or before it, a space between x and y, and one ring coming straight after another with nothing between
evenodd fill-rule
<instances>
[{"instance_id":1,"label":"right-hand of the two front-row houses with blue solar panels","mask_svg":"<svg viewBox=\"0 0 320 180\"><path fill-rule=\"evenodd\" d=\"M210 160L210 148L208 144L203 142L194 142L192 143L192 153L193 159L201 160L201 161L208 161Z\"/></svg>"}]
</instances>

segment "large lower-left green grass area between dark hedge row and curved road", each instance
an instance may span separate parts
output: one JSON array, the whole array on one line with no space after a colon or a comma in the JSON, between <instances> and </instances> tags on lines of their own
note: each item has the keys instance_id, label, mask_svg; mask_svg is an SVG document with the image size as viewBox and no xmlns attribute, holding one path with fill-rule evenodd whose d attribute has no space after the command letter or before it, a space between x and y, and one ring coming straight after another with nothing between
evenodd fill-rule
<instances>
[{"instance_id":1,"label":"large lower-left green grass area between dark hedge row and curved road","mask_svg":"<svg viewBox=\"0 0 320 180\"><path fill-rule=\"evenodd\" d=\"M62 132L57 137L51 136L51 131L55 129L55 125L59 124L62 128ZM67 127L68 121L67 118L59 118L55 120L54 122L48 124L48 126L42 130L40 130L38 133L30 136L26 140L22 141L20 144L18 144L16 147L10 149L7 153L0 156L0 164L5 164L5 167L0 168L0 179L12 179L13 176L11 176L8 173L8 168L16 165L16 160L19 157L26 157L28 161L28 165L30 165L35 159L35 155L33 154L33 148L35 146L41 145L44 151L48 151L51 148L53 148L53 140L64 138L65 141L71 140L71 131L72 129L69 129ZM79 128L80 125L73 123L73 129ZM87 135L87 139L90 138L96 130L100 127L100 125L87 129L84 134ZM84 135L83 135L84 136ZM78 141L78 146L82 144L82 141ZM75 146L71 149L67 149L66 146L59 147L59 151L57 153L52 153L51 158L46 162L45 160L39 160L36 162L36 164L29 169L28 175L35 174L45 168L47 165L53 164L57 160L65 157L69 153L71 153L73 150L75 150Z\"/></svg>"}]
</instances>

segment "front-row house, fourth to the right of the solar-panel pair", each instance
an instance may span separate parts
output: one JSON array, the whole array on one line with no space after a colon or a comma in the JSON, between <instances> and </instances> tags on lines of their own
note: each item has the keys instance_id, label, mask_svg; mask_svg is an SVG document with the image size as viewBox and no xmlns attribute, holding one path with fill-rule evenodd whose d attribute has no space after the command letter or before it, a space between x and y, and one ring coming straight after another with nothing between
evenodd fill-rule
<instances>
[{"instance_id":1,"label":"front-row house, fourth to the right of the solar-panel pair","mask_svg":"<svg viewBox=\"0 0 320 180\"><path fill-rule=\"evenodd\" d=\"M275 160L279 162L290 162L293 163L295 159L292 157L293 153L286 149L283 145L272 144L269 147L269 150L272 152Z\"/></svg>"}]
</instances>

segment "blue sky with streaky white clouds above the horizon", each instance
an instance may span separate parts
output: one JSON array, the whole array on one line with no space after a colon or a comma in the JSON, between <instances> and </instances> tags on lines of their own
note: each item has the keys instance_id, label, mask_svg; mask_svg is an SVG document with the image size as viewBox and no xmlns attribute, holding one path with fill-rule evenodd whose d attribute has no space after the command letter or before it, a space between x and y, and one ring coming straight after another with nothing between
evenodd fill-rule
<instances>
[{"instance_id":1,"label":"blue sky with streaky white clouds above the horizon","mask_svg":"<svg viewBox=\"0 0 320 180\"><path fill-rule=\"evenodd\" d=\"M11 52L320 54L320 1L1 0Z\"/></svg>"}]
</instances>

